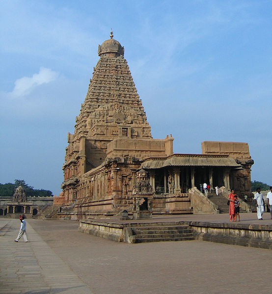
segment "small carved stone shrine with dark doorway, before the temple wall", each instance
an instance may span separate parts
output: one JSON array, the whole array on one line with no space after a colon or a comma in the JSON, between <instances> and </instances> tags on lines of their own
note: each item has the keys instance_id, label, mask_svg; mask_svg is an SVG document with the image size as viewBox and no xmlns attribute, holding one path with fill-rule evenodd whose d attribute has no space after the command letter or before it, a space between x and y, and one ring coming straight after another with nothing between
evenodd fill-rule
<instances>
[{"instance_id":1,"label":"small carved stone shrine with dark doorway, before the temple wall","mask_svg":"<svg viewBox=\"0 0 272 294\"><path fill-rule=\"evenodd\" d=\"M152 218L152 199L154 191L148 180L148 173L140 169L136 173L136 184L133 187L133 218Z\"/></svg>"}]
</instances>

